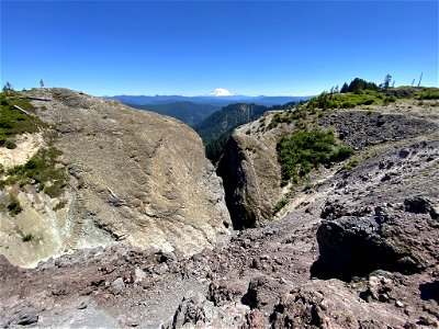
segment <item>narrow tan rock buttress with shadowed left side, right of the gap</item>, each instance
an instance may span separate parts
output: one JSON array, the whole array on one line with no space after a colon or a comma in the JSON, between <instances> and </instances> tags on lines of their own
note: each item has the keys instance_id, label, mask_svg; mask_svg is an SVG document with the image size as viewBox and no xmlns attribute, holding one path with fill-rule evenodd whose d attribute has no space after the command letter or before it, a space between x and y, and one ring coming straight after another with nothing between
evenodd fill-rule
<instances>
[{"instance_id":1,"label":"narrow tan rock buttress with shadowed left side, right of the gap","mask_svg":"<svg viewBox=\"0 0 439 329\"><path fill-rule=\"evenodd\" d=\"M266 116L262 120L269 121ZM235 129L217 168L236 229L259 226L272 218L275 202L282 195L277 135L270 132L257 136L246 134L255 125L259 125L259 121Z\"/></svg>"}]
</instances>

